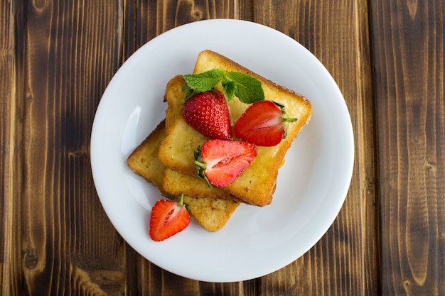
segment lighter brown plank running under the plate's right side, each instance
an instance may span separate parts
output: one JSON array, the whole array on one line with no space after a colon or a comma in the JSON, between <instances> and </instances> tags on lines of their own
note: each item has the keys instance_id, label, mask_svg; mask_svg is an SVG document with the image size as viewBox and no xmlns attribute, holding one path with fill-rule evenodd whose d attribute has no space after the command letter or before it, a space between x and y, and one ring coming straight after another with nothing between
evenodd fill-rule
<instances>
[{"instance_id":1,"label":"lighter brown plank running under the plate's right side","mask_svg":"<svg viewBox=\"0 0 445 296\"><path fill-rule=\"evenodd\" d=\"M341 213L308 253L261 279L262 295L376 295L374 111L367 1L255 1L253 15L254 21L286 33L323 62L345 97L355 133L353 180Z\"/></svg>"}]
</instances>

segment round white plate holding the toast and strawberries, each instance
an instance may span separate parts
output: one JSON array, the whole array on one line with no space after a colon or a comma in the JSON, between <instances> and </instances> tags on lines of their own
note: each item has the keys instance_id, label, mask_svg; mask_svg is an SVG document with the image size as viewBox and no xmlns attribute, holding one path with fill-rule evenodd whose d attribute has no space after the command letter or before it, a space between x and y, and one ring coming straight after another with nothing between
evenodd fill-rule
<instances>
[{"instance_id":1,"label":"round white plate holding the toast and strawberries","mask_svg":"<svg viewBox=\"0 0 445 296\"><path fill-rule=\"evenodd\" d=\"M156 243L149 238L147 221L161 195L127 168L127 156L165 117L168 80L193 72L205 49L303 94L312 103L312 118L279 170L272 204L242 204L218 232L193 221L180 234ZM348 192L353 150L345 101L316 57L272 28L220 19L174 28L129 57L97 108L91 163L105 212L141 256L186 278L233 282L288 265L325 234Z\"/></svg>"}]
</instances>

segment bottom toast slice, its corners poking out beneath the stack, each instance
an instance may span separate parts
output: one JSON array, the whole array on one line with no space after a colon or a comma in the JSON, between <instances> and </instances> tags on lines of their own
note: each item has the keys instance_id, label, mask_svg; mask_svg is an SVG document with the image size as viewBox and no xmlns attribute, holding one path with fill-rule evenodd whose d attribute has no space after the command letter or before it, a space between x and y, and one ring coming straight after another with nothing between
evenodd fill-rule
<instances>
[{"instance_id":1,"label":"bottom toast slice, its corners poking out beneath the stack","mask_svg":"<svg viewBox=\"0 0 445 296\"><path fill-rule=\"evenodd\" d=\"M158 187L163 196L166 196L167 193L173 196L181 195L182 192L173 194L172 192L163 190L162 174L165 167L158 160L158 150L165 134L166 128L164 120L133 150L127 158L127 165L136 172L136 174L141 175L148 182ZM192 181L201 181L193 177L190 178ZM240 202L233 199L193 196L184 196L184 202L189 205L193 219L208 231L218 231L221 229L227 223L230 216L232 216L233 212L235 212L235 209L240 205Z\"/></svg>"}]
</instances>

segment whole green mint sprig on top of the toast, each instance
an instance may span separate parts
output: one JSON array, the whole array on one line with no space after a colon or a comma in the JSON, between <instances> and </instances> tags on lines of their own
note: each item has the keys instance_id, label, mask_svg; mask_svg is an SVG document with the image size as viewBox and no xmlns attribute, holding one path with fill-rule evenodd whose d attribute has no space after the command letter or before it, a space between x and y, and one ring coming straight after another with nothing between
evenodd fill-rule
<instances>
[{"instance_id":1,"label":"whole green mint sprig on top of the toast","mask_svg":"<svg viewBox=\"0 0 445 296\"><path fill-rule=\"evenodd\" d=\"M220 69L208 70L198 74L183 75L187 85L183 87L186 99L200 92L208 92L221 82L227 102L237 97L241 102L251 104L264 101L262 84L257 78L235 71Z\"/></svg>"}]
</instances>

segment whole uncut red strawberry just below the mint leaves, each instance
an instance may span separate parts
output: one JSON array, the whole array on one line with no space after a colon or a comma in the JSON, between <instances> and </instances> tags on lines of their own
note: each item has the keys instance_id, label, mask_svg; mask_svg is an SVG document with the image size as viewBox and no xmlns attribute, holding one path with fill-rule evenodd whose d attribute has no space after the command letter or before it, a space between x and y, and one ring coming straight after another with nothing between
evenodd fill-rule
<instances>
[{"instance_id":1,"label":"whole uncut red strawberry just below the mint leaves","mask_svg":"<svg viewBox=\"0 0 445 296\"><path fill-rule=\"evenodd\" d=\"M208 138L231 138L229 109L224 94L217 90L201 92L183 105L183 116L189 126Z\"/></svg>"}]
</instances>

